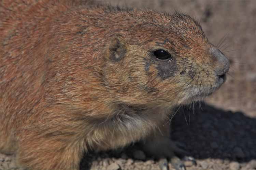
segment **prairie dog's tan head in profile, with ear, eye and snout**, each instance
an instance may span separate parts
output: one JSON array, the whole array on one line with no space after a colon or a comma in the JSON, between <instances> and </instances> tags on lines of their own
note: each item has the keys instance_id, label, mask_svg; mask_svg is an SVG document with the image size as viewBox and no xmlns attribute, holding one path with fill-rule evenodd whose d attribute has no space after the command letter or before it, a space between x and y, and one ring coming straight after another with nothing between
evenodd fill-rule
<instances>
[{"instance_id":1,"label":"prairie dog's tan head in profile, with ear, eye and snout","mask_svg":"<svg viewBox=\"0 0 256 170\"><path fill-rule=\"evenodd\" d=\"M209 96L225 82L229 61L194 19L133 12L138 18L123 23L105 53L106 86L117 101L173 106Z\"/></svg>"}]
</instances>

